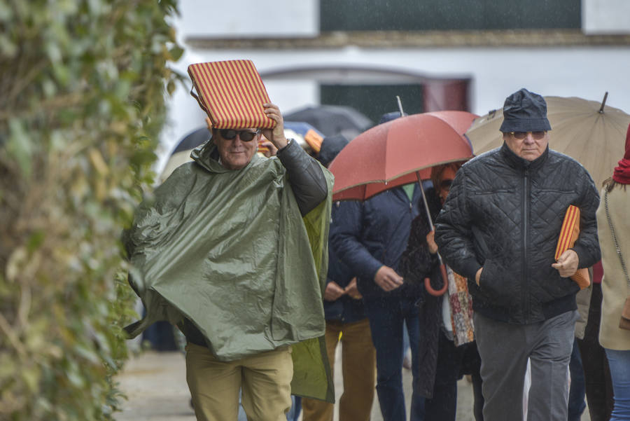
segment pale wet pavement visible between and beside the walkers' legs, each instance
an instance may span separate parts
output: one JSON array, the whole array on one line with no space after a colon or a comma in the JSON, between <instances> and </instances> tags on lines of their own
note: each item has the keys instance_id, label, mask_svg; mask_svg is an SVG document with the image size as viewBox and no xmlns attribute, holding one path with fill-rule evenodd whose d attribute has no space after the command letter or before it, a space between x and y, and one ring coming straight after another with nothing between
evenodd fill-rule
<instances>
[{"instance_id":1,"label":"pale wet pavement visible between and beside the walkers' legs","mask_svg":"<svg viewBox=\"0 0 630 421\"><path fill-rule=\"evenodd\" d=\"M337 348L337 352L339 351L340 348ZM340 361L340 358L337 358L337 361ZM340 366L335 368L335 392L338 399L343 387L341 375L337 375L341 373L341 368ZM125 369L116 380L119 383L118 387L127 395L127 400L122 402L123 411L116 415L117 421L195 421L186 385L186 363L181 352L142 352L127 361ZM402 380L405 396L410 396L409 370L403 369ZM372 421L382 419L374 396ZM464 378L458 382L457 421L473 420L472 387ZM582 417L582 420L587 418Z\"/></svg>"}]
</instances>

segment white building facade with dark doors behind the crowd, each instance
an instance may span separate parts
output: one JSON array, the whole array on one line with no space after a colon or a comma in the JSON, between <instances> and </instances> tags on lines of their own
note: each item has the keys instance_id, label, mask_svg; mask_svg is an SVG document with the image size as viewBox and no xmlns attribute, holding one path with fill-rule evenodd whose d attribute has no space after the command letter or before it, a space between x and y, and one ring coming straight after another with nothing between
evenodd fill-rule
<instances>
[{"instance_id":1,"label":"white building facade with dark doors behind the crowd","mask_svg":"<svg viewBox=\"0 0 630 421\"><path fill-rule=\"evenodd\" d=\"M174 25L193 62L250 59L272 101L290 112L350 105L376 120L405 111L479 115L519 88L577 96L630 113L626 0L181 0ZM190 84L192 85L192 84ZM204 124L178 88L165 151Z\"/></svg>"}]
</instances>

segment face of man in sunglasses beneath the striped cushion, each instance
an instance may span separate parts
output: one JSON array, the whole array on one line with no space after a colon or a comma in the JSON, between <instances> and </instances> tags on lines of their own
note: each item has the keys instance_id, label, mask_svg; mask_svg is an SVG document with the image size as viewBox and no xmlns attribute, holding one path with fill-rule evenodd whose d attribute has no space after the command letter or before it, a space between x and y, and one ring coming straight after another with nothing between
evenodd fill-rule
<instances>
[{"instance_id":1,"label":"face of man in sunglasses beneath the striped cushion","mask_svg":"<svg viewBox=\"0 0 630 421\"><path fill-rule=\"evenodd\" d=\"M213 137L221 165L228 170L240 170L256 153L260 133L256 129L215 129Z\"/></svg>"}]
</instances>

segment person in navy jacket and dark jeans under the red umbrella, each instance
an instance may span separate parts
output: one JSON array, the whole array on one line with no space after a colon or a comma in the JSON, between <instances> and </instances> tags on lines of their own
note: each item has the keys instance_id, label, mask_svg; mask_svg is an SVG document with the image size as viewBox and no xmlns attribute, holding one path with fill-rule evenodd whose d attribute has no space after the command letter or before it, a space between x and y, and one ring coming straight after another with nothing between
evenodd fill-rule
<instances>
[{"instance_id":1,"label":"person in navy jacket and dark jeans under the red umbrella","mask_svg":"<svg viewBox=\"0 0 630 421\"><path fill-rule=\"evenodd\" d=\"M400 117L388 113L385 123ZM365 313L377 352L377 394L384 421L405 421L402 391L402 330L406 322L412 351L412 373L418 371L419 309L421 289L398 274L413 219L423 210L416 184L393 188L365 202L341 202L335 218L344 223L330 230L330 245L357 277ZM415 387L411 421L423 419L424 398Z\"/></svg>"}]
</instances>

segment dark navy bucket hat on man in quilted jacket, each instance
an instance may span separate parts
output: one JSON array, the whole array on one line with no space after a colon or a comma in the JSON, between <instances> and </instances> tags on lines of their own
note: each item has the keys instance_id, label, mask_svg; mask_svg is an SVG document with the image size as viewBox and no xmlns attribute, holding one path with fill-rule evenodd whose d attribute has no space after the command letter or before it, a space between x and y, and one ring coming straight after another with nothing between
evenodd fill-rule
<instances>
[{"instance_id":1,"label":"dark navy bucket hat on man in quilted jacket","mask_svg":"<svg viewBox=\"0 0 630 421\"><path fill-rule=\"evenodd\" d=\"M540 132L551 130L547 120L547 102L525 88L505 98L501 132Z\"/></svg>"}]
</instances>

